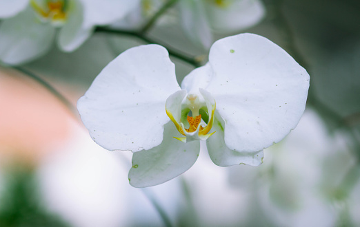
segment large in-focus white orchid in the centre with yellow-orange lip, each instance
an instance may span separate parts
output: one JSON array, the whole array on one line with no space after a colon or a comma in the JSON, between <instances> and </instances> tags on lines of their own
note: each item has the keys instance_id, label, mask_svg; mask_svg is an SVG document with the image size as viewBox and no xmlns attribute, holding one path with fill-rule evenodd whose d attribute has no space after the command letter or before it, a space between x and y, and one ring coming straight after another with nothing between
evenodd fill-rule
<instances>
[{"instance_id":1,"label":"large in-focus white orchid in the centre with yellow-orange lip","mask_svg":"<svg viewBox=\"0 0 360 227\"><path fill-rule=\"evenodd\" d=\"M281 47L239 34L215 42L181 89L166 49L142 45L109 63L77 107L101 147L134 153L130 184L145 187L187 171L199 140L219 166L261 164L299 122L309 80Z\"/></svg>"}]
</instances>

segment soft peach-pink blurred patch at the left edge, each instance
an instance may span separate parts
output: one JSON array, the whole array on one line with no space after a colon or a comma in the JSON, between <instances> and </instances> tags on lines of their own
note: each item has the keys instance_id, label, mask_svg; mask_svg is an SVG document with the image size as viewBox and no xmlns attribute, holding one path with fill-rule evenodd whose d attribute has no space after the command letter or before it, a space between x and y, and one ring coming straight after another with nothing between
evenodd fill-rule
<instances>
[{"instance_id":1,"label":"soft peach-pink blurred patch at the left edge","mask_svg":"<svg viewBox=\"0 0 360 227\"><path fill-rule=\"evenodd\" d=\"M70 111L50 91L12 69L0 68L1 162L37 164L70 133Z\"/></svg>"}]
</instances>

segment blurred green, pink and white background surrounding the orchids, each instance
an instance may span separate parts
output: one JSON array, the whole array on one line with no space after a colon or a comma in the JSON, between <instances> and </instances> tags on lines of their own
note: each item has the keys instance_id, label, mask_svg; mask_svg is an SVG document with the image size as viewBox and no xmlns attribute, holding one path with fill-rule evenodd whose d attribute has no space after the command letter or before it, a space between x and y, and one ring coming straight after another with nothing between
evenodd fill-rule
<instances>
[{"instance_id":1,"label":"blurred green, pink and white background surrounding the orchids","mask_svg":"<svg viewBox=\"0 0 360 227\"><path fill-rule=\"evenodd\" d=\"M98 30L74 52L54 44L0 66L0 226L360 226L360 1L262 3L251 28L212 34L265 36L310 74L298 127L264 150L261 166L219 167L202 149L183 175L132 188L130 151L99 147L72 108L115 56L147 42ZM145 36L205 63L178 4ZM181 82L194 65L170 57Z\"/></svg>"}]
</instances>

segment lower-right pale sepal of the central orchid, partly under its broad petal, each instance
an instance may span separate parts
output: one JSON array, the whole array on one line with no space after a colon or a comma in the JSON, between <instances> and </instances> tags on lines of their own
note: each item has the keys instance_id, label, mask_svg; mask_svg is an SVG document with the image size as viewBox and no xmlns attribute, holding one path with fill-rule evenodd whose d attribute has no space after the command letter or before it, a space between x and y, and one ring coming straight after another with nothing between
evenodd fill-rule
<instances>
[{"instance_id":1,"label":"lower-right pale sepal of the central orchid, partly under its broad petal","mask_svg":"<svg viewBox=\"0 0 360 227\"><path fill-rule=\"evenodd\" d=\"M235 164L248 164L250 166L259 166L263 160L263 151L234 151L229 149L224 140L224 122L215 118L212 131L216 131L208 140L206 147L210 158L218 166L232 166Z\"/></svg>"}]
</instances>

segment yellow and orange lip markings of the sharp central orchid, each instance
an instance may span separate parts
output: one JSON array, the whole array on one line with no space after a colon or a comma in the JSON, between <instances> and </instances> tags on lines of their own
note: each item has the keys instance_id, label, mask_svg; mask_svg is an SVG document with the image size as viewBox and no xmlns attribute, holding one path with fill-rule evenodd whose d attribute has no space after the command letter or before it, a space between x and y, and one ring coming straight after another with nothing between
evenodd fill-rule
<instances>
[{"instance_id":1,"label":"yellow and orange lip markings of the sharp central orchid","mask_svg":"<svg viewBox=\"0 0 360 227\"><path fill-rule=\"evenodd\" d=\"M188 95L188 99L190 101L193 101L195 99L194 95L192 95L192 94ZM168 108L166 108L166 114L168 115L170 120L174 123L175 127L177 127L177 131L179 131L179 133L181 133L181 135L189 136L189 135L193 135L194 133L196 133L198 131L197 137L200 139L206 140L212 134L215 133L215 132L212 132L212 133L208 134L210 132L210 130L212 129L212 125L214 123L214 114L215 114L215 109L216 109L216 103L214 102L214 105L211 105L211 106L212 106L211 114L210 114L210 118L208 119L207 124L201 123L201 114L198 114L197 116L187 116L186 120L189 123L188 129L185 129L182 122L178 122L177 120L175 120L174 116L172 115L172 113L170 112L170 110ZM190 111L190 109L189 109L189 111ZM210 109L208 109L208 112L210 112ZM194 114L194 112L192 112L192 113ZM176 137L174 137L174 138L176 138ZM176 139L186 142L186 138L176 138Z\"/></svg>"}]
</instances>

